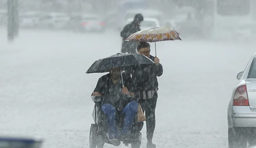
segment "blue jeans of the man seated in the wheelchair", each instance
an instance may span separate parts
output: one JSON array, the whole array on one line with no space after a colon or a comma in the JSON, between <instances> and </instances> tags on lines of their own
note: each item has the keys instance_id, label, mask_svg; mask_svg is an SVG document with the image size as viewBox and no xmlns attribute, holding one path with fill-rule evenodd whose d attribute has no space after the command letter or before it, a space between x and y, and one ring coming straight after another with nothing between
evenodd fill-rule
<instances>
[{"instance_id":1,"label":"blue jeans of the man seated in the wheelchair","mask_svg":"<svg viewBox=\"0 0 256 148\"><path fill-rule=\"evenodd\" d=\"M131 101L128 103L123 109L122 113L125 114L124 126L122 129L122 134L127 135L131 132L131 127L133 120L135 118L135 114L138 110L139 104L136 101ZM108 135L110 139L118 136L117 128L116 128L116 109L111 104L103 104L101 110L107 116L107 125L108 125Z\"/></svg>"}]
</instances>

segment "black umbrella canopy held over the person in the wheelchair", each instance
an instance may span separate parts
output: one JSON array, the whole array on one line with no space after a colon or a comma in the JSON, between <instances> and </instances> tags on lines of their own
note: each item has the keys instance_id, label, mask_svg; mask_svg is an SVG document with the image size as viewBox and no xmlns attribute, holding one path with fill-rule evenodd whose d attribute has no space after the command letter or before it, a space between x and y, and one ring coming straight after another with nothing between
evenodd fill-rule
<instances>
[{"instance_id":1,"label":"black umbrella canopy held over the person in the wheelchair","mask_svg":"<svg viewBox=\"0 0 256 148\"><path fill-rule=\"evenodd\" d=\"M96 60L86 73L109 72L112 68L126 68L129 66L154 64L154 62L141 54L117 53L112 56Z\"/></svg>"}]
</instances>

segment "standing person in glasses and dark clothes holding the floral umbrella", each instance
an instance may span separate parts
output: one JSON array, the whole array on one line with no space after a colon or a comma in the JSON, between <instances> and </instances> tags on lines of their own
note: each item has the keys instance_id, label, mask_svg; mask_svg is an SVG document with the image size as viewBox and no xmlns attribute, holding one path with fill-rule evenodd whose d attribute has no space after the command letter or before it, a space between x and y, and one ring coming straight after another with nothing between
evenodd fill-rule
<instances>
[{"instance_id":1,"label":"standing person in glasses and dark clothes holding the floral umbrella","mask_svg":"<svg viewBox=\"0 0 256 148\"><path fill-rule=\"evenodd\" d=\"M155 108L157 101L158 81L157 77L163 75L163 66L159 63L159 58L150 55L150 44L139 42L137 46L139 54L143 54L155 62L151 66L137 66L131 72L133 86L135 87L136 97L142 110L145 111L147 129L147 148L155 148L153 144L153 134L155 130Z\"/></svg>"}]
</instances>

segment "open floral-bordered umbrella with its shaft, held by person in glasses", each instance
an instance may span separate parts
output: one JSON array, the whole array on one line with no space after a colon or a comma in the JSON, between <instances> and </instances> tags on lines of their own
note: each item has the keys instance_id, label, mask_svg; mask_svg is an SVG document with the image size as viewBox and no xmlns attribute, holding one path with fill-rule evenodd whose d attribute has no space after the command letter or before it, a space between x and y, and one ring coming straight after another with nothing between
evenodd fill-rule
<instances>
[{"instance_id":1,"label":"open floral-bordered umbrella with its shaft, held by person in glasses","mask_svg":"<svg viewBox=\"0 0 256 148\"><path fill-rule=\"evenodd\" d=\"M124 41L155 42L156 54L156 42L174 40L181 40L180 33L166 25L135 32Z\"/></svg>"}]
</instances>

